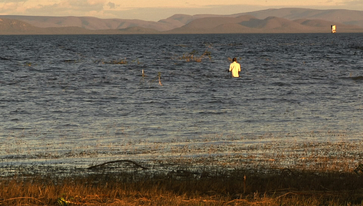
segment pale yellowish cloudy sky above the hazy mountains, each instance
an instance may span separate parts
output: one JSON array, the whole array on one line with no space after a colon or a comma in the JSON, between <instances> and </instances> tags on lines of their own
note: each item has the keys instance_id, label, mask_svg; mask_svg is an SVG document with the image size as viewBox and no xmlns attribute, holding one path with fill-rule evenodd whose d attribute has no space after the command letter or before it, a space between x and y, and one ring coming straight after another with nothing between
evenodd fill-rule
<instances>
[{"instance_id":1,"label":"pale yellowish cloudy sky above the hazy mountains","mask_svg":"<svg viewBox=\"0 0 363 206\"><path fill-rule=\"evenodd\" d=\"M229 15L291 7L362 11L363 0L0 0L0 15L159 21L174 14Z\"/></svg>"}]
</instances>

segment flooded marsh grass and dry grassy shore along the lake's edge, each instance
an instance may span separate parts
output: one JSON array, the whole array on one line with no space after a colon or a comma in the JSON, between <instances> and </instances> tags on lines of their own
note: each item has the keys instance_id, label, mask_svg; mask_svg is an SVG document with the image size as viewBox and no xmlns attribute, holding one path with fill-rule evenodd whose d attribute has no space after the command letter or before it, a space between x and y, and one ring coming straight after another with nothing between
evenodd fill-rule
<instances>
[{"instance_id":1,"label":"flooded marsh grass and dry grassy shore along the lake's edge","mask_svg":"<svg viewBox=\"0 0 363 206\"><path fill-rule=\"evenodd\" d=\"M362 205L363 141L286 139L104 140L71 151L7 142L0 204Z\"/></svg>"}]
</instances>

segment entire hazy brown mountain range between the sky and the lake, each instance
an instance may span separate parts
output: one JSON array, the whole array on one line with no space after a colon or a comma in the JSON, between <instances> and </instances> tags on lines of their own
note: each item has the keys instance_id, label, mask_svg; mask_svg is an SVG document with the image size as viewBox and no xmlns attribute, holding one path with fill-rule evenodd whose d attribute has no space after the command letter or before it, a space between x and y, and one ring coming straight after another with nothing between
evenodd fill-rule
<instances>
[{"instance_id":1,"label":"entire hazy brown mountain range between the sky and the lake","mask_svg":"<svg viewBox=\"0 0 363 206\"><path fill-rule=\"evenodd\" d=\"M233 15L176 14L156 21L0 15L0 35L363 32L363 11L282 8Z\"/></svg>"}]
</instances>

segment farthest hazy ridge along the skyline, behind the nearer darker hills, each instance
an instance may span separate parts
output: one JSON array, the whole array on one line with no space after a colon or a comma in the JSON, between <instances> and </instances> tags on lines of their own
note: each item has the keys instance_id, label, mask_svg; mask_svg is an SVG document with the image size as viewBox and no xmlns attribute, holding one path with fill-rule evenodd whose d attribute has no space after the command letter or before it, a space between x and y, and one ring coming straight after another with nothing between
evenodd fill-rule
<instances>
[{"instance_id":1,"label":"farthest hazy ridge along the skyline, behind the nearer darker hills","mask_svg":"<svg viewBox=\"0 0 363 206\"><path fill-rule=\"evenodd\" d=\"M176 14L167 19L155 21L143 21L137 19L99 19L96 17L76 17L76 16L17 16L17 15L0 15L4 19L16 19L29 23L36 27L81 27L90 30L105 29L125 29L128 27L143 27L156 29L158 31L168 31L182 27L193 20L206 17L238 17L254 16L256 19L265 19L269 16L280 17L287 20L297 19L319 19L333 21L335 23L357 25L363 27L363 11L354 11L346 9L305 9L305 8L281 8L266 9L254 12L237 13L233 15L183 15Z\"/></svg>"}]
</instances>

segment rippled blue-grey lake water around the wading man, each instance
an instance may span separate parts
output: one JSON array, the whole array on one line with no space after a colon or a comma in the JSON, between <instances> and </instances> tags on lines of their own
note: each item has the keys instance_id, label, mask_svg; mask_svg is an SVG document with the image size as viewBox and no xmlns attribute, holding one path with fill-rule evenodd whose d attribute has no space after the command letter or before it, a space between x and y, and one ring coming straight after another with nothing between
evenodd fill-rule
<instances>
[{"instance_id":1,"label":"rippled blue-grey lake water around the wading man","mask_svg":"<svg viewBox=\"0 0 363 206\"><path fill-rule=\"evenodd\" d=\"M0 36L0 48L3 167L363 137L362 33Z\"/></svg>"}]
</instances>

